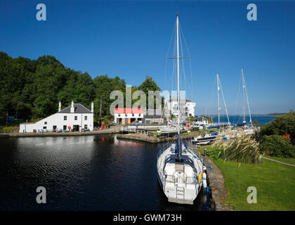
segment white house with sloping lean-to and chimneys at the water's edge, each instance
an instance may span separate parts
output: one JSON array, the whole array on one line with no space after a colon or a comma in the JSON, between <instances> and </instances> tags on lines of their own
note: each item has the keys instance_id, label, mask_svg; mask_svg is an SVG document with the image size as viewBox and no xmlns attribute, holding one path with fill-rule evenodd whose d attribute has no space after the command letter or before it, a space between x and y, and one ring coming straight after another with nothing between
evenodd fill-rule
<instances>
[{"instance_id":1,"label":"white house with sloping lean-to and chimneys at the water's edge","mask_svg":"<svg viewBox=\"0 0 295 225\"><path fill-rule=\"evenodd\" d=\"M39 132L43 130L71 130L81 131L89 129L93 131L93 102L91 110L80 103L74 103L61 110L61 103L58 104L58 113L39 120L38 122L27 122L20 124L20 133Z\"/></svg>"}]
</instances>

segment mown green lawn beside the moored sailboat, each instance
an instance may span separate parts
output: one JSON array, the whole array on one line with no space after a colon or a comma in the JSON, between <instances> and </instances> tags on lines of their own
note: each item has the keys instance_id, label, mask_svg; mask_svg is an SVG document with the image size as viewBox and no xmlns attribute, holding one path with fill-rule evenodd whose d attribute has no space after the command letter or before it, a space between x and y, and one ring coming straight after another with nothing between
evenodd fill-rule
<instances>
[{"instance_id":1,"label":"mown green lawn beside the moored sailboat","mask_svg":"<svg viewBox=\"0 0 295 225\"><path fill-rule=\"evenodd\" d=\"M251 165L225 162L218 158L218 147L206 147L208 157L221 169L228 192L228 203L235 210L295 210L295 167L263 160ZM200 148L204 152L204 147ZM257 203L247 203L247 188L257 189Z\"/></svg>"}]
</instances>

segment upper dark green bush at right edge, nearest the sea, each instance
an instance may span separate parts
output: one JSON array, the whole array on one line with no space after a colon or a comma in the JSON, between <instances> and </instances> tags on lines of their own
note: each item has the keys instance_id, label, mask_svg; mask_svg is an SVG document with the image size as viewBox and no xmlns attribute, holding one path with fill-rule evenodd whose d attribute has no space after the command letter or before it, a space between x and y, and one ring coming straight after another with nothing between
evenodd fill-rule
<instances>
[{"instance_id":1,"label":"upper dark green bush at right edge, nearest the sea","mask_svg":"<svg viewBox=\"0 0 295 225\"><path fill-rule=\"evenodd\" d=\"M290 134L291 143L295 144L295 112L290 111L261 127L261 136L277 134Z\"/></svg>"}]
</instances>

